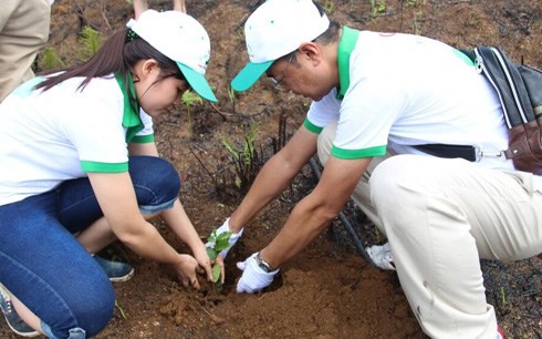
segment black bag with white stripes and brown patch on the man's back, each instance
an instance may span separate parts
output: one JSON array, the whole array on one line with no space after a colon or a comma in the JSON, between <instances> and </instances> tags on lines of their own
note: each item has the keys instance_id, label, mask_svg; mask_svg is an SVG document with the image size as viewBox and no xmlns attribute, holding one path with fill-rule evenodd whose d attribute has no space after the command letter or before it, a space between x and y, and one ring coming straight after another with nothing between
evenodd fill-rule
<instances>
[{"instance_id":1,"label":"black bag with white stripes and brown patch on the man's back","mask_svg":"<svg viewBox=\"0 0 542 339\"><path fill-rule=\"evenodd\" d=\"M499 94L509 132L505 157L512 160L518 171L542 175L542 71L514 64L496 47L461 52L477 64ZM440 157L479 158L473 146L428 144L415 147Z\"/></svg>"}]
</instances>

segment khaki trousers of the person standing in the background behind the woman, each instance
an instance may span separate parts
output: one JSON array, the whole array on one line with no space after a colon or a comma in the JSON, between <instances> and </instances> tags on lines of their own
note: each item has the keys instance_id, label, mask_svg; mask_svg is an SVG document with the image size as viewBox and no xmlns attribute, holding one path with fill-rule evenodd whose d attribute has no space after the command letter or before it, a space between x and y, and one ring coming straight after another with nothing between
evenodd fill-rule
<instances>
[{"instance_id":1,"label":"khaki trousers of the person standing in the background behind the woman","mask_svg":"<svg viewBox=\"0 0 542 339\"><path fill-rule=\"evenodd\" d=\"M32 63L49 39L49 0L1 0L0 102L34 76Z\"/></svg>"}]
</instances>

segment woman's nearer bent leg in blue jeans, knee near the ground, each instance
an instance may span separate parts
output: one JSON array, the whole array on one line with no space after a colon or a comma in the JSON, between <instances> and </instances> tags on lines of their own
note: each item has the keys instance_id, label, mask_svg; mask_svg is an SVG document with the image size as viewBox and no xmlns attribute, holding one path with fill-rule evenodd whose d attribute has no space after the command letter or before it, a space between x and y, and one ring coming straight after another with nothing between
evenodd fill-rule
<instances>
[{"instance_id":1,"label":"woman's nearer bent leg in blue jeans, knee near the ground","mask_svg":"<svg viewBox=\"0 0 542 339\"><path fill-rule=\"evenodd\" d=\"M0 206L0 282L41 320L46 336L92 337L113 315L114 290L56 212L53 192Z\"/></svg>"}]
</instances>

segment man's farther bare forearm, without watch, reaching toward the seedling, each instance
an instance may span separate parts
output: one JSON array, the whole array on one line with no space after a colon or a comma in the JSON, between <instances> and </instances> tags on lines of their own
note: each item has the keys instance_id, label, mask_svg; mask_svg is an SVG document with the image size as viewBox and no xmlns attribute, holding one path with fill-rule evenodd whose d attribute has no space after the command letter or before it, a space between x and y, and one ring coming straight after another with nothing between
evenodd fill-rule
<instances>
[{"instance_id":1,"label":"man's farther bare forearm, without watch, reaching toward the seedling","mask_svg":"<svg viewBox=\"0 0 542 339\"><path fill-rule=\"evenodd\" d=\"M229 219L232 233L239 233L243 225L288 187L316 152L316 142L317 134L301 126L290 142L265 163Z\"/></svg>"}]
</instances>

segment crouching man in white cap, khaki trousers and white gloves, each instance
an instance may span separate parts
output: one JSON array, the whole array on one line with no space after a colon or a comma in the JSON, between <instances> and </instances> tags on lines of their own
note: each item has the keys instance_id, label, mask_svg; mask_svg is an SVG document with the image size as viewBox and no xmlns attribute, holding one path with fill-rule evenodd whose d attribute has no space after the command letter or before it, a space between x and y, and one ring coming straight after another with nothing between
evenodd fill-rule
<instances>
[{"instance_id":1,"label":"crouching man in white cap, khaki trousers and white gloves","mask_svg":"<svg viewBox=\"0 0 542 339\"><path fill-rule=\"evenodd\" d=\"M265 73L313 103L219 232L232 232L233 246L315 152L324 171L275 238L238 263L237 291L269 286L352 197L387 236L428 336L501 338L479 259L541 253L542 179L500 156L501 106L476 65L431 39L340 27L311 0L268 0L244 33L250 62L232 88L248 90ZM448 147L435 145L461 145L476 162L445 158L438 150Z\"/></svg>"}]
</instances>

